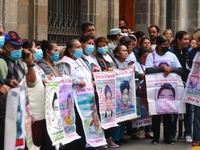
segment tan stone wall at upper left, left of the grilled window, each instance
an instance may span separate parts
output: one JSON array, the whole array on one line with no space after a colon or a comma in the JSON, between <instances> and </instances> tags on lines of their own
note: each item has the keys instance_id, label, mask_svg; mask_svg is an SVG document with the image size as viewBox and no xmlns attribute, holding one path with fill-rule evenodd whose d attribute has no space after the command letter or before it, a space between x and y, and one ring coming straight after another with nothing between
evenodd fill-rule
<instances>
[{"instance_id":1,"label":"tan stone wall at upper left, left of the grilled window","mask_svg":"<svg viewBox=\"0 0 200 150\"><path fill-rule=\"evenodd\" d=\"M47 39L47 6L48 0L4 0L1 7L5 31L14 30L22 38Z\"/></svg>"}]
</instances>

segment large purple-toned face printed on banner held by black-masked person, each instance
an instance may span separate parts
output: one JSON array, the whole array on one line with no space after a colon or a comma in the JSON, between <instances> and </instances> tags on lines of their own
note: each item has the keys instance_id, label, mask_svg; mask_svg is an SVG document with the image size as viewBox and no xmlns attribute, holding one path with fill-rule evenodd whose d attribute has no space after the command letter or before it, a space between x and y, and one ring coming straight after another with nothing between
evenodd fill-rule
<instances>
[{"instance_id":1,"label":"large purple-toned face printed on banner held by black-masked person","mask_svg":"<svg viewBox=\"0 0 200 150\"><path fill-rule=\"evenodd\" d=\"M176 94L178 91L170 83L164 83L156 92L156 111L158 114L177 113Z\"/></svg>"}]
</instances>

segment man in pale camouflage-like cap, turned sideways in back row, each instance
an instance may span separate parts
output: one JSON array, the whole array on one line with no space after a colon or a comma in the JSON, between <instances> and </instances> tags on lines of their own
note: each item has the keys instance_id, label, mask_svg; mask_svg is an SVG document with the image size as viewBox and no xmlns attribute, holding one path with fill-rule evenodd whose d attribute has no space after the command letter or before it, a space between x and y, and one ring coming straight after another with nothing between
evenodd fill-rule
<instances>
[{"instance_id":1,"label":"man in pale camouflage-like cap, turned sideways in back row","mask_svg":"<svg viewBox=\"0 0 200 150\"><path fill-rule=\"evenodd\" d=\"M109 31L109 35L107 36L107 38L110 40L108 43L108 52L112 56L114 56L113 51L119 44L119 41L120 41L122 35L123 35L123 33L121 32L121 29L119 29L119 28L113 28L113 29L110 29L110 31Z\"/></svg>"}]
</instances>

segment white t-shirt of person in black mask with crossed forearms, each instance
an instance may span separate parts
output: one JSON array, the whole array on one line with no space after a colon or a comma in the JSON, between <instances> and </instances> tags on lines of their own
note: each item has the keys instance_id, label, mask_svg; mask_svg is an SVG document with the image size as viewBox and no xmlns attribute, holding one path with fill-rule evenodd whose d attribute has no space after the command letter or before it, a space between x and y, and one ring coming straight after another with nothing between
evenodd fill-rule
<instances>
[{"instance_id":1,"label":"white t-shirt of person in black mask with crossed forearms","mask_svg":"<svg viewBox=\"0 0 200 150\"><path fill-rule=\"evenodd\" d=\"M156 68L159 66L169 66L171 68L181 67L176 55L171 52L166 52L164 55L160 56L156 52L149 53L146 59L146 68Z\"/></svg>"}]
</instances>

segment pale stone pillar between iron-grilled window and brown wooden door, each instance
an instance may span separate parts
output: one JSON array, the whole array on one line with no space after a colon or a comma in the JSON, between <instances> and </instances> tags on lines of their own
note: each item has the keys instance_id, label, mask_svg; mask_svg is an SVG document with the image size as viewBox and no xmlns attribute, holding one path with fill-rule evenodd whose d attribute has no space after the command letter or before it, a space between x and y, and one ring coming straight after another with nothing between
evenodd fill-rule
<instances>
[{"instance_id":1,"label":"pale stone pillar between iron-grilled window and brown wooden door","mask_svg":"<svg viewBox=\"0 0 200 150\"><path fill-rule=\"evenodd\" d=\"M81 0L80 25L91 21L96 27L96 36L107 36L110 28L118 27L119 0Z\"/></svg>"}]
</instances>

